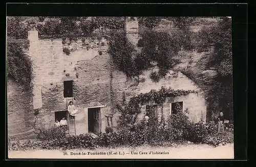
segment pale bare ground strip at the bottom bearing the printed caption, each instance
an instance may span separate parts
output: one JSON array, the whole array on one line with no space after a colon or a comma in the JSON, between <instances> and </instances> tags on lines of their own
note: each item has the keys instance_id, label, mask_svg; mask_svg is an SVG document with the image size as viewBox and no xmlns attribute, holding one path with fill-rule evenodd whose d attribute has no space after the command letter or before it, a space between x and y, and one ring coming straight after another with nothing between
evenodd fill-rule
<instances>
[{"instance_id":1,"label":"pale bare ground strip at the bottom bearing the printed caption","mask_svg":"<svg viewBox=\"0 0 256 167\"><path fill-rule=\"evenodd\" d=\"M90 152L90 153L88 153ZM112 154L110 154L110 152ZM134 154L132 154L134 152ZM153 153L164 154L153 154ZM71 155L77 153L80 155ZM101 153L101 155L95 155ZM116 154L115 154L116 153ZM138 153L138 154L135 154ZM64 155L68 154L68 155ZM105 155L102 155L105 154ZM9 158L57 158L57 159L233 159L233 144L221 147L208 145L187 145L168 148L138 147L97 150L35 150L10 151Z\"/></svg>"}]
</instances>

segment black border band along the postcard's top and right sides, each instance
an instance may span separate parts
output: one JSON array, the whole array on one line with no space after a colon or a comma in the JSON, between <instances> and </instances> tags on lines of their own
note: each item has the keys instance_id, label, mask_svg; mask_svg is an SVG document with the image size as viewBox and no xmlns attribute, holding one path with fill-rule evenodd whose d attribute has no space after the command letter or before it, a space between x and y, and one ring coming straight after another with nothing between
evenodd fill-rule
<instances>
[{"instance_id":1,"label":"black border band along the postcard's top and right sides","mask_svg":"<svg viewBox=\"0 0 256 167\"><path fill-rule=\"evenodd\" d=\"M24 3L7 4L6 12L7 16L231 16L233 53L234 158L240 160L247 159L247 4ZM5 98L7 97L5 96ZM7 114L5 118L5 121L7 121ZM7 128L7 122L5 123ZM5 135L7 136L7 129ZM8 152L8 150L6 151ZM17 159L9 159L8 161L10 160ZM53 159L47 160L52 161ZM111 159L105 159L104 165L106 165L106 160ZM76 160L72 159L72 161ZM119 159L117 161L126 160Z\"/></svg>"}]
</instances>

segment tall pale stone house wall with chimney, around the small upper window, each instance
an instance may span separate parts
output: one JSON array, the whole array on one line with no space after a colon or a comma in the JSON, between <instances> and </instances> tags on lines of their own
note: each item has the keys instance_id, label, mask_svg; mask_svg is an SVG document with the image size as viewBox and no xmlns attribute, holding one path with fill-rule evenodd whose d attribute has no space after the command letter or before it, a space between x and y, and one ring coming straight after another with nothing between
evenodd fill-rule
<instances>
[{"instance_id":1,"label":"tall pale stone house wall with chimney, around the small upper window","mask_svg":"<svg viewBox=\"0 0 256 167\"><path fill-rule=\"evenodd\" d=\"M54 111L67 109L67 101L63 97L63 81L66 80L74 81L74 104L78 108L78 115L84 112L84 107L98 105L95 103L109 105L110 64L109 55L106 54L108 46L104 39L62 44L62 39L38 40L36 33L31 31L29 36L29 55L35 64L33 106L39 109L36 129L53 126ZM71 51L69 55L63 53L65 47ZM99 54L100 51L102 54ZM80 122L78 116L78 128Z\"/></svg>"}]
</instances>

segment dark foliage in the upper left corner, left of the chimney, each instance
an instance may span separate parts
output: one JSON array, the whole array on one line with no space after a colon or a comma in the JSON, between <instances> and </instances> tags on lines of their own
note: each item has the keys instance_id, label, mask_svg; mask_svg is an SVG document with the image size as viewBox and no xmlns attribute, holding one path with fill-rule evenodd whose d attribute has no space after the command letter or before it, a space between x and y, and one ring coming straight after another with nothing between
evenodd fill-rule
<instances>
[{"instance_id":1,"label":"dark foliage in the upper left corner, left of the chimney","mask_svg":"<svg viewBox=\"0 0 256 167\"><path fill-rule=\"evenodd\" d=\"M7 17L7 76L24 88L30 88L33 79L32 61L25 53L29 47L27 38L28 25L22 17Z\"/></svg>"}]
</instances>

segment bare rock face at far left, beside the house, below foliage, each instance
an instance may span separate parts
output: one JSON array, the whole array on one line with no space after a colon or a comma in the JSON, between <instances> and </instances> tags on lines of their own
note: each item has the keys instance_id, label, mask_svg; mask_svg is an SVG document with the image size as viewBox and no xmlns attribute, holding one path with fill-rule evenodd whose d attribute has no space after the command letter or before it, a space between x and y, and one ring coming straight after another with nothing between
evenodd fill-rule
<instances>
[{"instance_id":1,"label":"bare rock face at far left, beside the house, below foliage","mask_svg":"<svg viewBox=\"0 0 256 167\"><path fill-rule=\"evenodd\" d=\"M11 78L7 79L8 137L33 133L35 116L32 92L24 90Z\"/></svg>"}]
</instances>

